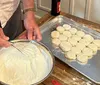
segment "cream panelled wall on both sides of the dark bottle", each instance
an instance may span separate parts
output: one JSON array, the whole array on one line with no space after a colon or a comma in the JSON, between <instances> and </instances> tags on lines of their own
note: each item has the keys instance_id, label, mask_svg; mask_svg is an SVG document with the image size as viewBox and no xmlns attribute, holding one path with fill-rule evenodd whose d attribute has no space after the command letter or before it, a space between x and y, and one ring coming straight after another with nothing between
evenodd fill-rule
<instances>
[{"instance_id":1,"label":"cream panelled wall on both sides of the dark bottle","mask_svg":"<svg viewBox=\"0 0 100 85\"><path fill-rule=\"evenodd\" d=\"M36 15L42 17L51 9L51 0L35 0ZM61 11L100 24L100 0L61 0Z\"/></svg>"}]
</instances>

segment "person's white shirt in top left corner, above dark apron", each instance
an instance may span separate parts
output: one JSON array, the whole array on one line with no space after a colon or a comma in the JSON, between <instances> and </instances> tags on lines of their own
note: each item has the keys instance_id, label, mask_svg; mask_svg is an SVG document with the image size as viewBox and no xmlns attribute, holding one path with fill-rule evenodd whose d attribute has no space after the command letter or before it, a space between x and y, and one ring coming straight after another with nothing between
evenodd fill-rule
<instances>
[{"instance_id":1,"label":"person's white shirt in top left corner, above dark apron","mask_svg":"<svg viewBox=\"0 0 100 85\"><path fill-rule=\"evenodd\" d=\"M0 21L4 27L13 13L16 11L20 0L0 0Z\"/></svg>"}]
</instances>

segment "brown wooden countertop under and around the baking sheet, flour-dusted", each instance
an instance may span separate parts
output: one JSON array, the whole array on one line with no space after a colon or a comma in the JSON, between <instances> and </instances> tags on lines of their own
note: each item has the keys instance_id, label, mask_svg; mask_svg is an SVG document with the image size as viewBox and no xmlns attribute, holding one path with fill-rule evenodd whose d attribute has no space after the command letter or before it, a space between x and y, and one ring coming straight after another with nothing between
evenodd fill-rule
<instances>
[{"instance_id":1,"label":"brown wooden countertop under and around the baking sheet, flour-dusted","mask_svg":"<svg viewBox=\"0 0 100 85\"><path fill-rule=\"evenodd\" d=\"M64 15L70 19L75 20L80 24L84 24L89 28L100 32L100 24L96 24L63 12L61 13L61 15ZM39 26L41 26L43 23L53 18L54 16L51 16L48 13L44 17L42 17L39 21L37 21L37 23ZM56 58L55 60L56 62L53 73L49 78L47 78L44 82L42 82L39 85L53 85L51 83L52 80L57 80L58 82L61 83L61 85L97 85L92 81L90 81L89 79L87 79L86 77L84 77L83 75L81 75L79 72L75 71L73 68L69 67L68 65L60 61L59 59ZM91 84L88 84L89 82Z\"/></svg>"}]
</instances>

